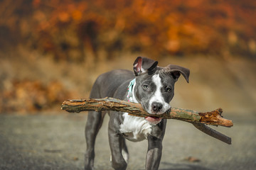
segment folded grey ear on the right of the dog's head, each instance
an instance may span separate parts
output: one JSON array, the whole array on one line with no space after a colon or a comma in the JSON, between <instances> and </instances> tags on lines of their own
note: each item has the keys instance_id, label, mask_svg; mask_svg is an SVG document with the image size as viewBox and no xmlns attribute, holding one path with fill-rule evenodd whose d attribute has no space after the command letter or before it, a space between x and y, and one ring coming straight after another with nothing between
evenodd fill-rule
<instances>
[{"instance_id":1,"label":"folded grey ear on the right of the dog's head","mask_svg":"<svg viewBox=\"0 0 256 170\"><path fill-rule=\"evenodd\" d=\"M180 77L182 74L183 77L186 79L186 81L189 82L188 80L189 74L190 74L189 69L186 69L181 66L169 64L168 66L164 67L164 72L169 72L171 76L174 77L175 81L177 81L178 77Z\"/></svg>"}]
</instances>

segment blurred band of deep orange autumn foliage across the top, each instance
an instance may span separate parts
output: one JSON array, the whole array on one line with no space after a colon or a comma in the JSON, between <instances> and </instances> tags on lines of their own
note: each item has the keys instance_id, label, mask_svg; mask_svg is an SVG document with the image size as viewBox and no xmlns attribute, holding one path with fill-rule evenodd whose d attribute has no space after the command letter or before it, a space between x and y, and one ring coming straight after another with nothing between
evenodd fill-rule
<instances>
[{"instance_id":1,"label":"blurred band of deep orange autumn foliage across the top","mask_svg":"<svg viewBox=\"0 0 256 170\"><path fill-rule=\"evenodd\" d=\"M122 52L256 55L253 0L3 0L0 47L80 62Z\"/></svg>"}]
</instances>

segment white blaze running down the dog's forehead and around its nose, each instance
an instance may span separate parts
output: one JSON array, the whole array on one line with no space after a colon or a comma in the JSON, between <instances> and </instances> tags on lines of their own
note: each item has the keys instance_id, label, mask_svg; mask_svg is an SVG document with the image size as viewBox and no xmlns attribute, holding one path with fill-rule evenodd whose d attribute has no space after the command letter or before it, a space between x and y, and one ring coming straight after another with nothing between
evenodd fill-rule
<instances>
[{"instance_id":1,"label":"white blaze running down the dog's forehead and around its nose","mask_svg":"<svg viewBox=\"0 0 256 170\"><path fill-rule=\"evenodd\" d=\"M152 96L152 98L149 101L148 111L151 112L152 103L157 102L157 103L161 103L163 105L163 108L161 109L160 112L165 113L169 108L171 108L171 106L169 105L169 103L166 103L166 101L164 101L164 96L161 94L161 88L162 88L163 84L161 84L161 78L159 77L159 74L155 74L152 77L152 81L156 85L156 92L154 93L154 96Z\"/></svg>"}]
</instances>

